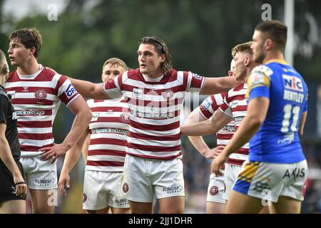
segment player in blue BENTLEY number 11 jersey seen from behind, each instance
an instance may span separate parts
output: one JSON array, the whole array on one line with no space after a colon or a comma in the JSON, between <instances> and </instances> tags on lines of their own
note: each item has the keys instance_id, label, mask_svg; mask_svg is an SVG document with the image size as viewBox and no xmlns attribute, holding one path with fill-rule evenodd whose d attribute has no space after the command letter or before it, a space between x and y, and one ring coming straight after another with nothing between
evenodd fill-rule
<instances>
[{"instance_id":1,"label":"player in blue BENTLEY number 11 jersey seen from behind","mask_svg":"<svg viewBox=\"0 0 321 228\"><path fill-rule=\"evenodd\" d=\"M235 180L227 213L257 213L270 203L270 213L300 213L307 161L299 136L307 118L307 86L285 62L287 26L263 21L253 34L254 60L248 79L248 115L230 143L215 158L214 170L250 140L249 160Z\"/></svg>"}]
</instances>

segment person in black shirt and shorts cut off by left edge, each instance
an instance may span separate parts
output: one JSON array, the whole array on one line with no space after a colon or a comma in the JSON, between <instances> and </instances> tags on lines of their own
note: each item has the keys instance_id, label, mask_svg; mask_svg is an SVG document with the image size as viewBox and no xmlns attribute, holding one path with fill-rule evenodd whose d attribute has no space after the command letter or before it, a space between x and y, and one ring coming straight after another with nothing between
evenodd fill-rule
<instances>
[{"instance_id":1,"label":"person in black shirt and shorts cut off by left edge","mask_svg":"<svg viewBox=\"0 0 321 228\"><path fill-rule=\"evenodd\" d=\"M0 214L26 213L27 186L22 177L16 113L4 82L9 68L0 50Z\"/></svg>"}]
</instances>

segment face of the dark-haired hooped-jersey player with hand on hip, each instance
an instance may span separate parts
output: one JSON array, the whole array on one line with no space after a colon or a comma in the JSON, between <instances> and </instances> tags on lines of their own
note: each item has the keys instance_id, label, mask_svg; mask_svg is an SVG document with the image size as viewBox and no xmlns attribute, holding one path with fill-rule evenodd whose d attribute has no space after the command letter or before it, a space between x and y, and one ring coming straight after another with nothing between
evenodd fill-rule
<instances>
[{"instance_id":1,"label":"face of the dark-haired hooped-jersey player with hand on hip","mask_svg":"<svg viewBox=\"0 0 321 228\"><path fill-rule=\"evenodd\" d=\"M19 41L19 38L14 38L9 43L8 53L11 61L11 66L21 66L29 57L29 49Z\"/></svg>"}]
</instances>

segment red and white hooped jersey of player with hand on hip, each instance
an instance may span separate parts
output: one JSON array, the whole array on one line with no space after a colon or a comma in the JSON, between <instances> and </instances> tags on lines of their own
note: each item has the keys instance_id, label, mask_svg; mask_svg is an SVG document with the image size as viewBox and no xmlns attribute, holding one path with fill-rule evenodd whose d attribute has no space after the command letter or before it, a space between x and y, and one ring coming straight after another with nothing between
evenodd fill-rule
<instances>
[{"instance_id":1,"label":"red and white hooped jersey of player with hand on hip","mask_svg":"<svg viewBox=\"0 0 321 228\"><path fill-rule=\"evenodd\" d=\"M52 126L61 101L68 107L79 96L66 76L39 66L31 76L10 73L5 86L16 110L21 157L54 145Z\"/></svg>"}]
</instances>

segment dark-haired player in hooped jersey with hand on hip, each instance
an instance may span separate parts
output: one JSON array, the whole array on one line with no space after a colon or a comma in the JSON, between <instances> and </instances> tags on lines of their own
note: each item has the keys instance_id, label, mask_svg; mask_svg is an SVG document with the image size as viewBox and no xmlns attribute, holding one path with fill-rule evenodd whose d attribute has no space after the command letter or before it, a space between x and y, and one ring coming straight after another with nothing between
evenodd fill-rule
<instances>
[{"instance_id":1,"label":"dark-haired player in hooped jersey with hand on hip","mask_svg":"<svg viewBox=\"0 0 321 228\"><path fill-rule=\"evenodd\" d=\"M42 38L36 28L13 31L9 42L11 65L17 69L9 74L6 91L17 114L21 163L33 212L54 213L49 190L57 187L56 159L81 137L91 111L66 76L37 62ZM54 144L52 127L61 101L76 115L75 125L61 144Z\"/></svg>"}]
</instances>

